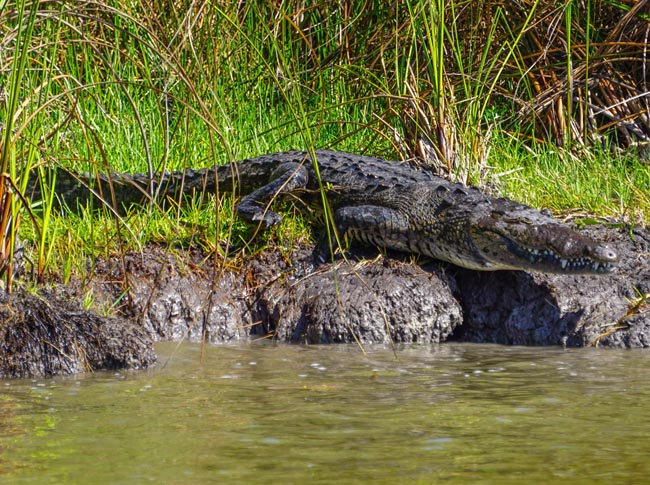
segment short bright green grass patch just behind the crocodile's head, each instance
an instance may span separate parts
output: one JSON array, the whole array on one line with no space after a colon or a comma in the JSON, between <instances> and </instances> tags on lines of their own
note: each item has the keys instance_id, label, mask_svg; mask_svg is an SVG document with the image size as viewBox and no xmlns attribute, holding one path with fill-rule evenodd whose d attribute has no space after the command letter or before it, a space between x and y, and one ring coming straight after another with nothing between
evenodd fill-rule
<instances>
[{"instance_id":1,"label":"short bright green grass patch just behind the crocodile's head","mask_svg":"<svg viewBox=\"0 0 650 485\"><path fill-rule=\"evenodd\" d=\"M559 215L644 223L650 218L650 169L636 154L598 149L575 155L550 144L532 150L495 143L492 175L499 193Z\"/></svg>"}]
</instances>

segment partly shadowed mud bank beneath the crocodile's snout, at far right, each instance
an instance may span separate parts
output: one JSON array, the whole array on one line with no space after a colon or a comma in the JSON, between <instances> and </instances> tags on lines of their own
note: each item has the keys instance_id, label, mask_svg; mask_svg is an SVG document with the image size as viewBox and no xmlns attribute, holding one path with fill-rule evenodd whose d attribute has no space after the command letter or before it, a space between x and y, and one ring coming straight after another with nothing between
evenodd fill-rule
<instances>
[{"instance_id":1,"label":"partly shadowed mud bank beneath the crocodile's snout, at far right","mask_svg":"<svg viewBox=\"0 0 650 485\"><path fill-rule=\"evenodd\" d=\"M650 294L650 231L591 227L584 232L616 247L620 263L613 273L459 270L465 318L454 338L509 345L649 347L650 309L646 304L632 307L639 295Z\"/></svg>"}]
</instances>

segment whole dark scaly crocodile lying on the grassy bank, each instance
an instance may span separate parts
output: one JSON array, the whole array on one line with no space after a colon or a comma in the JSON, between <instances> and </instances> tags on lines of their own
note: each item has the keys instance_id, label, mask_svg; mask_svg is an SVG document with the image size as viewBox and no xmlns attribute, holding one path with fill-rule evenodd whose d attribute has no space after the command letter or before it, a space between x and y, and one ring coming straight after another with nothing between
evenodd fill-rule
<instances>
[{"instance_id":1,"label":"whole dark scaly crocodile lying on the grassy bank","mask_svg":"<svg viewBox=\"0 0 650 485\"><path fill-rule=\"evenodd\" d=\"M548 211L489 196L409 164L329 150L291 151L200 170L162 175L88 174L59 170L55 190L68 206L102 199L116 210L189 194L243 195L238 215L269 227L280 195L328 208L338 240L422 254L481 271L607 273L618 261L607 244L579 234ZM313 163L317 162L317 163ZM39 197L33 180L27 195ZM31 191L31 194L30 194ZM323 193L326 198L323 198ZM117 207L119 206L119 207ZM329 246L329 245L327 245ZM324 251L319 251L323 259Z\"/></svg>"}]
</instances>

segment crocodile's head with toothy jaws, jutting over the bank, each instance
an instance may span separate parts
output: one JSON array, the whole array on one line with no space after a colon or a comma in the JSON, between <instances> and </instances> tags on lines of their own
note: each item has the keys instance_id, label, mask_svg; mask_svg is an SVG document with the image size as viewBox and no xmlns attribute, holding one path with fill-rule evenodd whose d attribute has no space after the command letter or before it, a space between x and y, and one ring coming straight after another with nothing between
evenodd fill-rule
<instances>
[{"instance_id":1,"label":"crocodile's head with toothy jaws, jutting over the bank","mask_svg":"<svg viewBox=\"0 0 650 485\"><path fill-rule=\"evenodd\" d=\"M483 270L608 273L618 261L608 245L578 234L530 207L478 211L470 228Z\"/></svg>"}]
</instances>

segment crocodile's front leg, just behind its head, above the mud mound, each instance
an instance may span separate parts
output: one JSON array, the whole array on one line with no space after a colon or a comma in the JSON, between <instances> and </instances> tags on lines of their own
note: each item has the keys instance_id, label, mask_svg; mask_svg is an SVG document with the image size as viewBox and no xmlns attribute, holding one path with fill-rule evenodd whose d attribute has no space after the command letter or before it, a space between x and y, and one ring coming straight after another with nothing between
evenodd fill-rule
<instances>
[{"instance_id":1,"label":"crocodile's front leg, just behind its head, above the mud mound","mask_svg":"<svg viewBox=\"0 0 650 485\"><path fill-rule=\"evenodd\" d=\"M370 246L383 249L409 249L408 219L398 211L375 205L341 207L334 214L336 230L340 238L349 237ZM336 241L324 238L316 253L320 262L325 262L330 253L328 244L336 246Z\"/></svg>"}]
</instances>

